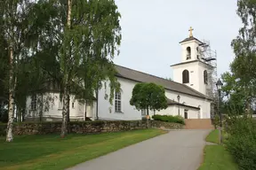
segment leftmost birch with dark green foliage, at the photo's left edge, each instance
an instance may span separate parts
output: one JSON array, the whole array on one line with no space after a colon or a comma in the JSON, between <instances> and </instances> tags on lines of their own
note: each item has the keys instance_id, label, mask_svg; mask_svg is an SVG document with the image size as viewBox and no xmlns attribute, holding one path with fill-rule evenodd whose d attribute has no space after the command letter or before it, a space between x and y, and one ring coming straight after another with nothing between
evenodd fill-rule
<instances>
[{"instance_id":1,"label":"leftmost birch with dark green foliage, at the photo's left edge","mask_svg":"<svg viewBox=\"0 0 256 170\"><path fill-rule=\"evenodd\" d=\"M24 113L28 94L45 80L35 65L39 35L44 35L45 20L50 18L45 13L51 14L45 4L44 0L0 1L0 96L9 102L8 131L12 129L14 106L18 114ZM6 140L12 141L12 130L8 134Z\"/></svg>"}]
</instances>

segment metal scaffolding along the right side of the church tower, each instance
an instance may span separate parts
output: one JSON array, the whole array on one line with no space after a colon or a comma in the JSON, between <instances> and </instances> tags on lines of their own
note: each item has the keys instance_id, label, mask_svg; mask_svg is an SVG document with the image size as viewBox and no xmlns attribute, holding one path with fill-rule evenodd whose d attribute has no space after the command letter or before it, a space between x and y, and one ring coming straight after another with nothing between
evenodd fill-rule
<instances>
[{"instance_id":1,"label":"metal scaffolding along the right side of the church tower","mask_svg":"<svg viewBox=\"0 0 256 170\"><path fill-rule=\"evenodd\" d=\"M216 88L216 82L218 81L217 75L217 52L211 49L209 41L203 41L199 46L199 59L207 66L207 83L205 94L212 99L211 104L211 117L213 119L216 113L216 104L218 103L218 91Z\"/></svg>"}]
</instances>

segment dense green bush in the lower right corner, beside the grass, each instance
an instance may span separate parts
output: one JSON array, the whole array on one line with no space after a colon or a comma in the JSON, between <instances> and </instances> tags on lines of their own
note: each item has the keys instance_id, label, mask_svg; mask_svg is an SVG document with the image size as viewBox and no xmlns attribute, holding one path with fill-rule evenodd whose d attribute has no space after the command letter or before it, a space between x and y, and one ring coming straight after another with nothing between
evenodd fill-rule
<instances>
[{"instance_id":1,"label":"dense green bush in the lower right corner, beside the grass","mask_svg":"<svg viewBox=\"0 0 256 170\"><path fill-rule=\"evenodd\" d=\"M228 151L239 169L256 169L256 122L250 118L228 120Z\"/></svg>"}]
</instances>

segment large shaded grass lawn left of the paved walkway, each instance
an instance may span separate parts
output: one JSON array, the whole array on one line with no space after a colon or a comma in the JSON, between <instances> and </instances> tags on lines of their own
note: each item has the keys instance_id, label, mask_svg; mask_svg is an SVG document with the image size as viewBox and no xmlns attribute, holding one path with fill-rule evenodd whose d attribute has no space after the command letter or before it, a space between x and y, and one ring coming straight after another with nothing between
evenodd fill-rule
<instances>
[{"instance_id":1,"label":"large shaded grass lawn left of the paved walkway","mask_svg":"<svg viewBox=\"0 0 256 170\"><path fill-rule=\"evenodd\" d=\"M100 135L23 135L15 136L13 143L0 137L0 169L58 170L75 166L133 143L162 135L158 129Z\"/></svg>"}]
</instances>

